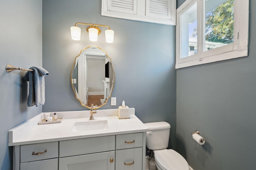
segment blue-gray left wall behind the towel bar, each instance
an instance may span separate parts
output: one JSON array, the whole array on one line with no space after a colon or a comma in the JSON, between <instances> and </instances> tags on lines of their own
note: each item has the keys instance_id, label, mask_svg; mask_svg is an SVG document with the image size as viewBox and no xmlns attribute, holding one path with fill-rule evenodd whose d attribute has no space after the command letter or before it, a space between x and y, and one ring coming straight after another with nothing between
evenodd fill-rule
<instances>
[{"instance_id":1,"label":"blue-gray left wall behind the towel bar","mask_svg":"<svg viewBox=\"0 0 256 170\"><path fill-rule=\"evenodd\" d=\"M0 169L12 167L8 131L42 112L27 107L25 71L7 73L5 66L42 66L42 0L1 0L0 5Z\"/></svg>"}]
</instances>

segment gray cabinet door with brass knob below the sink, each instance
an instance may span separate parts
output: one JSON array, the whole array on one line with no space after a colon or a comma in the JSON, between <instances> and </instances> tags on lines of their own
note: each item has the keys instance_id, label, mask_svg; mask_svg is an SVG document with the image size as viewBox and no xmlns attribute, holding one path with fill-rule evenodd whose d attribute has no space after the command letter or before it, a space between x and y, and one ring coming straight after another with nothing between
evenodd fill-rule
<instances>
[{"instance_id":1,"label":"gray cabinet door with brass knob below the sink","mask_svg":"<svg viewBox=\"0 0 256 170\"><path fill-rule=\"evenodd\" d=\"M59 158L59 170L114 170L115 151Z\"/></svg>"}]
</instances>

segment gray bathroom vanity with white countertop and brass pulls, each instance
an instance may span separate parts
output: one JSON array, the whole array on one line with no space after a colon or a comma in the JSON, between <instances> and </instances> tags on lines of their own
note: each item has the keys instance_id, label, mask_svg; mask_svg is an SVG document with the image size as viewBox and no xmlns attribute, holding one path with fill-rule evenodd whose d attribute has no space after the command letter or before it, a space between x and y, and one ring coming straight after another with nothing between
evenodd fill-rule
<instances>
[{"instance_id":1,"label":"gray bathroom vanity with white countertop and brass pulls","mask_svg":"<svg viewBox=\"0 0 256 170\"><path fill-rule=\"evenodd\" d=\"M38 125L43 113L9 131L13 170L144 170L147 127L130 108L56 112L61 123Z\"/></svg>"}]
</instances>

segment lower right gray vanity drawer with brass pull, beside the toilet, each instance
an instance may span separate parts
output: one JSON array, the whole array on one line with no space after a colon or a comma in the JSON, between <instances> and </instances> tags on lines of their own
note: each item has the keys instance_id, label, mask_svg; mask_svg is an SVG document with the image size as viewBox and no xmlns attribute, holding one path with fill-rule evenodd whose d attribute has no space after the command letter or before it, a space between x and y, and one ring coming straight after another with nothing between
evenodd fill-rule
<instances>
[{"instance_id":1,"label":"lower right gray vanity drawer with brass pull, beside the toilet","mask_svg":"<svg viewBox=\"0 0 256 170\"><path fill-rule=\"evenodd\" d=\"M116 170L142 170L142 147L116 150Z\"/></svg>"}]
</instances>

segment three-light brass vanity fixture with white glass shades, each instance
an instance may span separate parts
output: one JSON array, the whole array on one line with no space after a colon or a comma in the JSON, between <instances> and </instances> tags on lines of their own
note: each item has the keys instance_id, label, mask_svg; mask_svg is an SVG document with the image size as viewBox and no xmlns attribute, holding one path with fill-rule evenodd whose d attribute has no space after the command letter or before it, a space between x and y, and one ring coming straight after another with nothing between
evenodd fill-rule
<instances>
[{"instance_id":1,"label":"three-light brass vanity fixture with white glass shades","mask_svg":"<svg viewBox=\"0 0 256 170\"><path fill-rule=\"evenodd\" d=\"M108 25L98 25L98 24L92 24L92 23L76 23L76 25L70 27L71 31L71 38L73 40L79 41L81 37L81 28L77 25L89 25L86 29L86 31L89 33L89 40L90 41L97 41L98 35L101 33L100 27L108 27L105 31L105 37L107 43L113 43L114 42L114 31L110 29Z\"/></svg>"}]
</instances>

